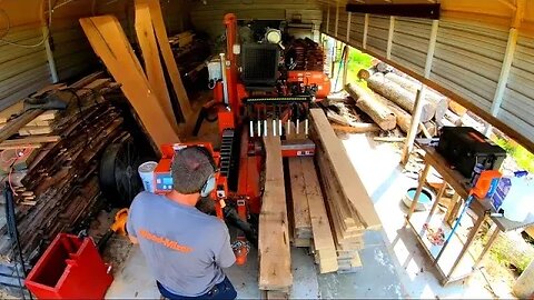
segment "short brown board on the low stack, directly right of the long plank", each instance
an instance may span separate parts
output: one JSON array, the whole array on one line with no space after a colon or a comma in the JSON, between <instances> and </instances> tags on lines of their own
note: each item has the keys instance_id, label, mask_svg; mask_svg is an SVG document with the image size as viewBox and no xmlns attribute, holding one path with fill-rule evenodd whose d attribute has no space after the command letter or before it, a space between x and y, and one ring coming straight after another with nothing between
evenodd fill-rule
<instances>
[{"instance_id":1,"label":"short brown board on the low stack, directly right of the long plank","mask_svg":"<svg viewBox=\"0 0 534 300\"><path fill-rule=\"evenodd\" d=\"M294 236L296 239L305 238L303 233L312 232L312 221L309 219L308 198L306 196L306 183L304 180L300 158L289 158L289 172L291 181L293 213L294 213ZM306 237L309 238L309 237Z\"/></svg>"}]
</instances>

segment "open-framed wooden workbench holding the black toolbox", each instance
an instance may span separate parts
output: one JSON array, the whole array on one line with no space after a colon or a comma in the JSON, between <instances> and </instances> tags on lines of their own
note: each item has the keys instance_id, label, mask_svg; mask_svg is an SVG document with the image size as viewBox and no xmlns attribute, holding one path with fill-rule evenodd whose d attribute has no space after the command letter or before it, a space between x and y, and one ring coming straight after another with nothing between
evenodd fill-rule
<instances>
[{"instance_id":1,"label":"open-framed wooden workbench holding the black toolbox","mask_svg":"<svg viewBox=\"0 0 534 300\"><path fill-rule=\"evenodd\" d=\"M461 227L458 227L466 230L467 238L465 241L462 240L457 230L454 232L454 236L448 244L432 243L427 237L427 228L441 228L444 231L445 238L448 237L452 226L454 224L457 214L465 202L465 199L468 197L471 187L468 184L469 179L462 176L458 171L452 169L451 164L442 154L436 151L435 148L424 146L423 150L426 152L424 158L425 167L421 173L412 206L406 214L405 227L409 226L409 228L412 228L417 241L431 258L432 263L436 267L441 276L441 283L445 286L449 282L469 277L488 252L501 231L506 232L534 224L534 216L531 214L525 222L514 222L503 217L494 217L492 213L495 212L495 209L491 203L491 199L475 199L471 203L471 210L474 212L474 214L476 214L476 221L474 222L474 226L466 229L466 227L462 226L461 223ZM442 176L444 184L439 189L431 210L416 212L415 207L418 202L422 189L425 186L431 167ZM442 217L435 214L434 212L436 211L439 199L443 197L447 186L454 189L455 197L453 197L453 200L446 209L445 216ZM491 232L490 239L484 244L482 252L476 258L472 257L471 254L466 256L468 253L468 249L475 240L476 233L479 231L485 220L493 222L491 229L491 231L493 231Z\"/></svg>"}]
</instances>

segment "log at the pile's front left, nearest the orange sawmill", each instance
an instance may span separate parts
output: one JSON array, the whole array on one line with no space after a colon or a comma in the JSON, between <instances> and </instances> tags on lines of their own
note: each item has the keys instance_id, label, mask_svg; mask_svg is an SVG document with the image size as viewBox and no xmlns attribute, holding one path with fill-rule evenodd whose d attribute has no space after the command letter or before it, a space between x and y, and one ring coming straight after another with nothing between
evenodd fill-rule
<instances>
[{"instance_id":1,"label":"log at the pile's front left, nearest the orange sawmill","mask_svg":"<svg viewBox=\"0 0 534 300\"><path fill-rule=\"evenodd\" d=\"M383 130L392 130L397 126L396 117L373 93L358 84L347 83L345 90L356 100L356 106L373 119Z\"/></svg>"}]
</instances>

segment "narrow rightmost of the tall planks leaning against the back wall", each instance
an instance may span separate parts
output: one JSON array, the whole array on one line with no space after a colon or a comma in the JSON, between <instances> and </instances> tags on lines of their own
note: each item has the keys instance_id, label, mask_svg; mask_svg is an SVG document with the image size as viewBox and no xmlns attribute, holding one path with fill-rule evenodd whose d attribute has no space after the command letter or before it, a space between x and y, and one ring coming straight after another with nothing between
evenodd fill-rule
<instances>
[{"instance_id":1,"label":"narrow rightmost of the tall planks leaning against the back wall","mask_svg":"<svg viewBox=\"0 0 534 300\"><path fill-rule=\"evenodd\" d=\"M178 98L178 104L181 109L181 113L187 122L189 118L192 118L192 109L191 104L189 103L189 97L187 96L184 83L181 82L178 64L176 63L175 56L170 49L169 38L167 36L167 29L165 28L164 14L161 12L159 0L145 1L148 1L150 7L150 17L152 19L156 38L158 39L159 50L164 57L167 72L169 73L172 88L175 89L176 97Z\"/></svg>"}]
</instances>

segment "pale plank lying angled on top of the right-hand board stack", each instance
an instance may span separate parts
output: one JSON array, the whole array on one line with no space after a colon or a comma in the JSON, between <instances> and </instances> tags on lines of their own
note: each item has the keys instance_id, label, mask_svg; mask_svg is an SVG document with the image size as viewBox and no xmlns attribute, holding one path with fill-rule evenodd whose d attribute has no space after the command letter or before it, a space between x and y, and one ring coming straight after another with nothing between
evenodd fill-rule
<instances>
[{"instance_id":1,"label":"pale plank lying angled on top of the right-hand board stack","mask_svg":"<svg viewBox=\"0 0 534 300\"><path fill-rule=\"evenodd\" d=\"M356 209L366 228L379 229L382 224L375 207L359 176L354 170L345 148L328 123L328 119L326 119L322 109L310 109L309 112L312 127L317 134L318 142L324 147L325 153L332 162L332 169L339 182L343 194Z\"/></svg>"}]
</instances>

